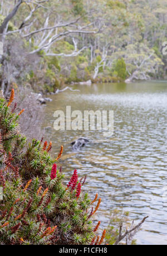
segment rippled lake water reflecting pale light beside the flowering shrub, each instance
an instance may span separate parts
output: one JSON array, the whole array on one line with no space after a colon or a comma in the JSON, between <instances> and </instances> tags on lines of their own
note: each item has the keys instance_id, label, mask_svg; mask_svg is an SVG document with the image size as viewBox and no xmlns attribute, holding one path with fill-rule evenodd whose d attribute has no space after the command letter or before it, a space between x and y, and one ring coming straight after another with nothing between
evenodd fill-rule
<instances>
[{"instance_id":1,"label":"rippled lake water reflecting pale light beside the flowering shrub","mask_svg":"<svg viewBox=\"0 0 167 256\"><path fill-rule=\"evenodd\" d=\"M167 244L166 110L167 82L75 85L79 92L52 95L47 104L46 137L57 155L65 150L60 164L66 177L76 168L87 174L85 190L102 198L98 219L109 223L111 209L130 211L131 218L149 215L136 235L139 244ZM101 131L53 129L55 110L114 110L114 135ZM89 144L72 152L70 142L87 137Z\"/></svg>"}]
</instances>

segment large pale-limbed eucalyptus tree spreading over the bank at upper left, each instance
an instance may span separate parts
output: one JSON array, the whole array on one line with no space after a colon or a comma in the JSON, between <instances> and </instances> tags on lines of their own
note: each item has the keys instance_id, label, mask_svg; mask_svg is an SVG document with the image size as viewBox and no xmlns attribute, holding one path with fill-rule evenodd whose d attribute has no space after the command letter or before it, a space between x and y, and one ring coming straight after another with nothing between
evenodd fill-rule
<instances>
[{"instance_id":1,"label":"large pale-limbed eucalyptus tree spreading over the bank at upper left","mask_svg":"<svg viewBox=\"0 0 167 256\"><path fill-rule=\"evenodd\" d=\"M18 63L13 67L12 61L8 61L9 57L12 59L9 52L12 51L13 41L22 41L26 46L26 50L24 46L19 47L19 56L24 59L28 59L28 55L36 55L37 59L39 55L77 56L89 47L82 45L78 49L77 36L97 32L94 21L89 21L92 11L86 12L82 0L2 1L0 36L4 44L4 55L1 57L1 88L4 93L8 94L11 83L22 75L21 65ZM71 40L73 44L73 50L68 54L63 50L56 51L56 43L65 39ZM17 48L16 44L15 47ZM17 67L19 70L16 70Z\"/></svg>"}]
</instances>

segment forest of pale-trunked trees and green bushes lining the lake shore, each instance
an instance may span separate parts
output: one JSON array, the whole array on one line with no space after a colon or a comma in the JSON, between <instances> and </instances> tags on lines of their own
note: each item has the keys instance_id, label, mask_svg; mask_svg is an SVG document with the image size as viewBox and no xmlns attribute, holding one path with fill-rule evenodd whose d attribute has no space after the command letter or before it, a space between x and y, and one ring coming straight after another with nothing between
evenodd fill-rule
<instances>
[{"instance_id":1,"label":"forest of pale-trunked trees and green bushes lining the lake shore","mask_svg":"<svg viewBox=\"0 0 167 256\"><path fill-rule=\"evenodd\" d=\"M1 88L165 78L166 14L165 0L1 0Z\"/></svg>"}]
</instances>

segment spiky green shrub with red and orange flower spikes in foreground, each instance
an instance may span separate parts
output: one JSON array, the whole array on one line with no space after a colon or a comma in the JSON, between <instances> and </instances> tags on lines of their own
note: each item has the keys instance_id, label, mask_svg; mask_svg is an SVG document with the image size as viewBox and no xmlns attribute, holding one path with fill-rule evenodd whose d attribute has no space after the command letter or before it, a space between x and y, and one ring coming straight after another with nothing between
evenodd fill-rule
<instances>
[{"instance_id":1,"label":"spiky green shrub with red and orange flower spikes in foreground","mask_svg":"<svg viewBox=\"0 0 167 256\"><path fill-rule=\"evenodd\" d=\"M92 225L92 216L101 199L91 202L82 193L86 177L78 180L73 171L66 186L57 161L50 156L52 143L26 137L19 132L14 89L9 100L0 97L0 244L102 244L96 236L100 221ZM97 200L97 201L96 201ZM95 202L96 201L96 202ZM95 204L95 206L93 205Z\"/></svg>"}]
</instances>

